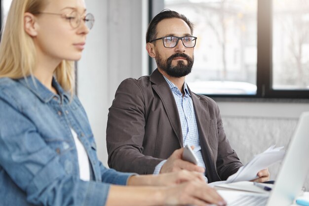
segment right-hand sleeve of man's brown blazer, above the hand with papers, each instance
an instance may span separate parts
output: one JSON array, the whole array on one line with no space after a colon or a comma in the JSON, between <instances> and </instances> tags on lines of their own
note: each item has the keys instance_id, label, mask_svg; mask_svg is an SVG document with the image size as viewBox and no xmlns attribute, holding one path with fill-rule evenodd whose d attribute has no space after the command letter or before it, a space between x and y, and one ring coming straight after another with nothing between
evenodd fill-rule
<instances>
[{"instance_id":1,"label":"right-hand sleeve of man's brown blazer, above the hand with papers","mask_svg":"<svg viewBox=\"0 0 309 206\"><path fill-rule=\"evenodd\" d=\"M220 110L217 106L217 128L218 128L218 158L217 172L222 180L226 180L230 175L234 174L242 163L236 152L232 149L229 140L226 137L223 123L220 115Z\"/></svg>"}]
</instances>

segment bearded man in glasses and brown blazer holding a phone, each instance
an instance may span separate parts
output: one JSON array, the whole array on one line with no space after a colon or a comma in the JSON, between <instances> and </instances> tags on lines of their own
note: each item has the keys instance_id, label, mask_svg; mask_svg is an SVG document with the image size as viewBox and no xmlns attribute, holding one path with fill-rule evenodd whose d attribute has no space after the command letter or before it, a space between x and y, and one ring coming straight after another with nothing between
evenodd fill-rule
<instances>
[{"instance_id":1,"label":"bearded man in glasses and brown blazer holding a phone","mask_svg":"<svg viewBox=\"0 0 309 206\"><path fill-rule=\"evenodd\" d=\"M207 182L226 180L242 166L223 129L215 101L193 93L185 79L193 66L193 24L176 11L163 10L146 34L157 69L120 83L109 109L108 164L138 174L180 169L203 172ZM193 146L198 165L182 160ZM267 169L254 181L267 181Z\"/></svg>"}]
</instances>

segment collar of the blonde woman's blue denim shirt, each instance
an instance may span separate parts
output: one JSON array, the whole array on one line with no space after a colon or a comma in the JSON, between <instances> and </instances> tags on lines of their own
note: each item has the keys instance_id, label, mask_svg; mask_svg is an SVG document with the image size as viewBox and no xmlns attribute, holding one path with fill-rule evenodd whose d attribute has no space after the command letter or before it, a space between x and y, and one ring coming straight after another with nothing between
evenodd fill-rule
<instances>
[{"instance_id":1,"label":"collar of the blonde woman's blue denim shirt","mask_svg":"<svg viewBox=\"0 0 309 206\"><path fill-rule=\"evenodd\" d=\"M64 98L69 100L71 96L69 92L63 90L63 88L54 77L52 79L52 86L57 90L58 94L51 92L48 88L46 88L46 86L39 82L37 78L31 75L26 78L21 78L18 81L27 88L29 88L34 94L39 97L41 101L45 103L49 102L54 97L58 98L58 100L60 101L64 100Z\"/></svg>"}]
</instances>

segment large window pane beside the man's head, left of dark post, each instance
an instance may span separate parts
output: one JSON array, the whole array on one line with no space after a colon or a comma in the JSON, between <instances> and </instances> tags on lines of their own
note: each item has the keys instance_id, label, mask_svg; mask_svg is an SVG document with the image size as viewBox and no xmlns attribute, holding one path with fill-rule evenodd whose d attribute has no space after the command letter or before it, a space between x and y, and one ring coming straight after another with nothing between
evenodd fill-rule
<instances>
[{"instance_id":1,"label":"large window pane beside the man's head, left of dark post","mask_svg":"<svg viewBox=\"0 0 309 206\"><path fill-rule=\"evenodd\" d=\"M201 94L257 91L257 0L164 0L194 24L190 88Z\"/></svg>"}]
</instances>

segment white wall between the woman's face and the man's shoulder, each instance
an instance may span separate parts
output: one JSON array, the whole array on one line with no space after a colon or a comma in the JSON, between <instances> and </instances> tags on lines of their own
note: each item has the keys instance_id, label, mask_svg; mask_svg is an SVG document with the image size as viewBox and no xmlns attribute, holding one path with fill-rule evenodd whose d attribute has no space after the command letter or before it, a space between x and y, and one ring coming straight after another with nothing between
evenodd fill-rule
<instances>
[{"instance_id":1,"label":"white wall between the woman's face and the man's shoulder","mask_svg":"<svg viewBox=\"0 0 309 206\"><path fill-rule=\"evenodd\" d=\"M98 157L106 166L107 115L116 88L125 78L138 78L148 71L144 40L147 2L86 0L95 24L78 62L77 93L96 139Z\"/></svg>"}]
</instances>

